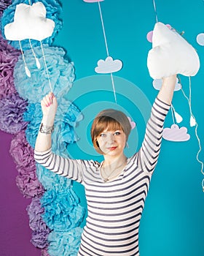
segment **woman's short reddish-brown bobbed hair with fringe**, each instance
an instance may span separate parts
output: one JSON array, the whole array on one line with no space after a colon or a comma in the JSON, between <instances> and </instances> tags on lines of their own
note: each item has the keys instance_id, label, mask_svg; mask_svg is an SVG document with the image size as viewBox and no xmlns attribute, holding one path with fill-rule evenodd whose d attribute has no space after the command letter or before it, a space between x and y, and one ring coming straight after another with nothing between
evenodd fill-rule
<instances>
[{"instance_id":1,"label":"woman's short reddish-brown bobbed hair with fringe","mask_svg":"<svg viewBox=\"0 0 204 256\"><path fill-rule=\"evenodd\" d=\"M99 148L97 138L104 130L116 131L117 129L122 129L125 133L126 142L128 136L130 135L131 126L125 113L119 110L106 109L102 110L95 116L93 120L92 127L90 129L90 135L92 138L93 146L99 154L103 154L103 151Z\"/></svg>"}]
</instances>

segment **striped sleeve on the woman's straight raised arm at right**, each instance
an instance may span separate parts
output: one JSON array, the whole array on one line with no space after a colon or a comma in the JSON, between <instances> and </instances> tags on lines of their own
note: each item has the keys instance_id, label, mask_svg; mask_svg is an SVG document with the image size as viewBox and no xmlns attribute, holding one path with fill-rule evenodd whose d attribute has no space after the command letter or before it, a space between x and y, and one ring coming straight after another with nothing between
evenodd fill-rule
<instances>
[{"instance_id":1,"label":"striped sleeve on the woman's straight raised arm at right","mask_svg":"<svg viewBox=\"0 0 204 256\"><path fill-rule=\"evenodd\" d=\"M138 151L138 166L142 170L152 172L157 165L162 143L162 131L165 116L170 105L156 98L152 106L151 116L146 125L144 141Z\"/></svg>"}]
</instances>

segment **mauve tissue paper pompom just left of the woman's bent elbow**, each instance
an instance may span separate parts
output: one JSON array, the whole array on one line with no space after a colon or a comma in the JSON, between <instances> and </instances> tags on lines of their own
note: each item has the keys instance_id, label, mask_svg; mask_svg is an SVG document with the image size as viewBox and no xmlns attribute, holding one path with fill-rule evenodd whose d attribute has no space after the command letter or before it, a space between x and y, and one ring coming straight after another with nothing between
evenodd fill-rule
<instances>
[{"instance_id":1,"label":"mauve tissue paper pompom just left of the woman's bent elbow","mask_svg":"<svg viewBox=\"0 0 204 256\"><path fill-rule=\"evenodd\" d=\"M35 167L34 149L28 144L25 131L18 132L12 139L9 153L18 167Z\"/></svg>"}]
</instances>

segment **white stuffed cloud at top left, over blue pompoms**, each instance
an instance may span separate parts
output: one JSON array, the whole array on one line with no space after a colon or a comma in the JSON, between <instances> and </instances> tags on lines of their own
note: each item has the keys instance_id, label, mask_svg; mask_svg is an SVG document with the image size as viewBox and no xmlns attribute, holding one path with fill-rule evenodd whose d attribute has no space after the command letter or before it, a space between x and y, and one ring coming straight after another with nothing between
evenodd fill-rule
<instances>
[{"instance_id":1,"label":"white stuffed cloud at top left, over blue pompoms","mask_svg":"<svg viewBox=\"0 0 204 256\"><path fill-rule=\"evenodd\" d=\"M4 34L12 41L23 39L42 41L52 35L54 28L54 21L46 18L46 9L42 2L32 5L17 4L14 22L4 27Z\"/></svg>"}]
</instances>

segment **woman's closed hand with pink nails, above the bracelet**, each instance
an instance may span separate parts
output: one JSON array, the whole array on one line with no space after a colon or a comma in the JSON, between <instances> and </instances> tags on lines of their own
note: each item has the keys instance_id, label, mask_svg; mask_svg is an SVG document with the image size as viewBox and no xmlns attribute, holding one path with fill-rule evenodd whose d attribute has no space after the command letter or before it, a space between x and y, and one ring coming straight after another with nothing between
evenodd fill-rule
<instances>
[{"instance_id":1,"label":"woman's closed hand with pink nails, above the bracelet","mask_svg":"<svg viewBox=\"0 0 204 256\"><path fill-rule=\"evenodd\" d=\"M58 102L55 95L50 92L41 101L42 107L42 123L44 125L53 125L55 120L55 114L58 109Z\"/></svg>"}]
</instances>

